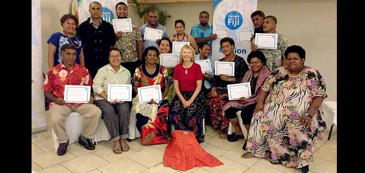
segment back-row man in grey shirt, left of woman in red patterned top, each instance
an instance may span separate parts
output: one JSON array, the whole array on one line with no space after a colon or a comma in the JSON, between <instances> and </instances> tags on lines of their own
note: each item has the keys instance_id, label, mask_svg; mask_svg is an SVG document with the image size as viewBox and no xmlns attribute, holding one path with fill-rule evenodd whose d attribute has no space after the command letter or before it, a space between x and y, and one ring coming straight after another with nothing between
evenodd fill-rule
<instances>
[{"instance_id":1,"label":"back-row man in grey shirt, left of woman in red patterned top","mask_svg":"<svg viewBox=\"0 0 365 173\"><path fill-rule=\"evenodd\" d=\"M142 39L145 37L145 30L146 28L152 28L152 29L156 29L156 30L161 30L163 31L162 33L162 38L168 38L169 35L167 34L166 28L162 25L160 25L158 22L158 16L157 16L157 12L155 10L151 10L148 12L148 22L145 25L142 25L140 27L140 32L141 32L141 36ZM150 40L143 40L143 51L145 51L145 49L149 46L154 46L157 49L159 48L158 46L158 42L160 42L160 39L157 39L156 41L150 41Z\"/></svg>"}]
</instances>

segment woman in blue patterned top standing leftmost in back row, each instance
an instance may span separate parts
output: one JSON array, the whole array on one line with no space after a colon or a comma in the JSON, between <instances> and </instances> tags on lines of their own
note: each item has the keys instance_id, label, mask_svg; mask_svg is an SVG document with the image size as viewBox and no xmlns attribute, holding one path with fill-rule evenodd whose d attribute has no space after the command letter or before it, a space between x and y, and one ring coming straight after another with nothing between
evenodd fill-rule
<instances>
[{"instance_id":1,"label":"woman in blue patterned top standing leftmost in back row","mask_svg":"<svg viewBox=\"0 0 365 173\"><path fill-rule=\"evenodd\" d=\"M64 44L73 44L76 47L76 64L85 67L83 44L81 38L73 35L78 25L77 18L72 14L64 14L61 19L61 32L53 33L47 40L48 43L48 68L51 69L62 63L61 47Z\"/></svg>"}]
</instances>

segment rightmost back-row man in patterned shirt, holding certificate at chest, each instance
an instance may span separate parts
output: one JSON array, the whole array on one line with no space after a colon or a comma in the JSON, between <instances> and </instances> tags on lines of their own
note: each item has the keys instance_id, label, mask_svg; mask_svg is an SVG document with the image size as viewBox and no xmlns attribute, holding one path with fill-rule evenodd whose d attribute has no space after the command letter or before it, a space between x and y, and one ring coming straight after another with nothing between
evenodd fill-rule
<instances>
[{"instance_id":1,"label":"rightmost back-row man in patterned shirt, holding certificate at chest","mask_svg":"<svg viewBox=\"0 0 365 173\"><path fill-rule=\"evenodd\" d=\"M266 16L263 21L263 32L266 34L277 34L276 29L277 20L275 16ZM288 48L288 39L281 34L278 34L278 45L277 49L258 49L255 44L255 40L251 44L251 51L261 51L266 57L266 67L274 72L275 69L281 66L287 65L287 59L285 58L284 52Z\"/></svg>"}]
</instances>

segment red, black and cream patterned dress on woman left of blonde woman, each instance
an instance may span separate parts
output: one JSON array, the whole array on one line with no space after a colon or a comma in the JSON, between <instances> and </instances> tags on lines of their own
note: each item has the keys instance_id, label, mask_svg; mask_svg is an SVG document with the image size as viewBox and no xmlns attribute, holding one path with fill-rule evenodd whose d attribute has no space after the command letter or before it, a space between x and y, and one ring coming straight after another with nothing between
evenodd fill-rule
<instances>
[{"instance_id":1,"label":"red, black and cream patterned dress on woman left of blonde woman","mask_svg":"<svg viewBox=\"0 0 365 173\"><path fill-rule=\"evenodd\" d=\"M160 85L161 92L163 93L165 80L168 80L168 73L165 67L156 64L155 72L153 74L150 74L146 69L146 65L142 64L141 66L136 68L134 73L134 78L136 81L139 82L138 87ZM133 104L139 104L139 103L133 103ZM155 116L155 118L149 118L145 115L142 115L141 113L136 114L137 118L136 126L138 131L141 133L142 144L150 145L150 144L168 142L168 140L170 139L168 137L168 130L167 130L168 115L169 115L169 103L167 99L162 100L161 104L158 105L157 115Z\"/></svg>"}]
</instances>

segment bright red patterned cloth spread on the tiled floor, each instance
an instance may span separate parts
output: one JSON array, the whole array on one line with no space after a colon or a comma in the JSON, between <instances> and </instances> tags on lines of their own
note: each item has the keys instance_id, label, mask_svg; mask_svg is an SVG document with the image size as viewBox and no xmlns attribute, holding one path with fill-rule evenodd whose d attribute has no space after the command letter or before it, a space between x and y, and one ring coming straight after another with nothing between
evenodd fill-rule
<instances>
[{"instance_id":1,"label":"bright red patterned cloth spread on the tiled floor","mask_svg":"<svg viewBox=\"0 0 365 173\"><path fill-rule=\"evenodd\" d=\"M183 132L189 134L184 135ZM216 167L223 163L199 145L193 132L175 130L172 133L171 142L166 146L163 165L186 171L194 167Z\"/></svg>"}]
</instances>

